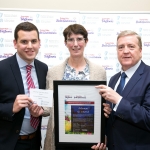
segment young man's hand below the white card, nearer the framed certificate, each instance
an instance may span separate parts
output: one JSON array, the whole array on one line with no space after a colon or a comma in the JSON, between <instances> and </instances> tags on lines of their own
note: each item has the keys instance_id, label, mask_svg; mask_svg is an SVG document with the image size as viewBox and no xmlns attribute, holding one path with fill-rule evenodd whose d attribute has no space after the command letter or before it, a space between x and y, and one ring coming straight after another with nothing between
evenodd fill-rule
<instances>
[{"instance_id":1,"label":"young man's hand below the white card, nearer the framed certificate","mask_svg":"<svg viewBox=\"0 0 150 150\"><path fill-rule=\"evenodd\" d=\"M41 106L38 106L37 104L32 104L30 105L29 107L29 111L30 111L30 114L33 116L33 117L39 117L43 114L44 110L42 109Z\"/></svg>"}]
</instances>

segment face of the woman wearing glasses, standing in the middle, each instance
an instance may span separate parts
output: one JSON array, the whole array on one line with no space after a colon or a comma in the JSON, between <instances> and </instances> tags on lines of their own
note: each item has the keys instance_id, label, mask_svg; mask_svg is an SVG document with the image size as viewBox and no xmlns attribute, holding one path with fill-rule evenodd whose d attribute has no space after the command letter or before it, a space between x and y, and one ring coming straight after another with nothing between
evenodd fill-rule
<instances>
[{"instance_id":1,"label":"face of the woman wearing glasses, standing in the middle","mask_svg":"<svg viewBox=\"0 0 150 150\"><path fill-rule=\"evenodd\" d=\"M88 40L84 39L83 35L81 34L72 33L70 36L67 36L65 45L69 49L70 57L83 57L84 48L87 42Z\"/></svg>"}]
</instances>

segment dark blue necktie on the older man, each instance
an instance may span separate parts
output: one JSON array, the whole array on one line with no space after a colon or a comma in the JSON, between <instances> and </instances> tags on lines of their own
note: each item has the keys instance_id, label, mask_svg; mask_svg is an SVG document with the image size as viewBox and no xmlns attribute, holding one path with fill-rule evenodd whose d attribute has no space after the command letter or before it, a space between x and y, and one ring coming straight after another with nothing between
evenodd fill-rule
<instances>
[{"instance_id":1,"label":"dark blue necktie on the older man","mask_svg":"<svg viewBox=\"0 0 150 150\"><path fill-rule=\"evenodd\" d=\"M125 74L125 72L123 72L121 74L121 79L120 79L120 83L117 87L117 90L116 92L120 95L122 95L122 91L123 91L123 88L124 88L124 84L125 84L125 78L127 77L127 75Z\"/></svg>"}]
</instances>

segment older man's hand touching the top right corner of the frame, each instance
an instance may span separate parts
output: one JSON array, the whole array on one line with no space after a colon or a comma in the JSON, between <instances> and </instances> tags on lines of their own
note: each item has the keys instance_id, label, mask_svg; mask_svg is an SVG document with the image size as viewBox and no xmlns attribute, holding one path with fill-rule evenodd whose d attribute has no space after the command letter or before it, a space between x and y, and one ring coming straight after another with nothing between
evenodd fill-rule
<instances>
[{"instance_id":1,"label":"older man's hand touching the top right corner of the frame","mask_svg":"<svg viewBox=\"0 0 150 150\"><path fill-rule=\"evenodd\" d=\"M96 88L100 89L100 95L107 101L117 104L117 102L122 98L116 91L106 85L98 85Z\"/></svg>"}]
</instances>

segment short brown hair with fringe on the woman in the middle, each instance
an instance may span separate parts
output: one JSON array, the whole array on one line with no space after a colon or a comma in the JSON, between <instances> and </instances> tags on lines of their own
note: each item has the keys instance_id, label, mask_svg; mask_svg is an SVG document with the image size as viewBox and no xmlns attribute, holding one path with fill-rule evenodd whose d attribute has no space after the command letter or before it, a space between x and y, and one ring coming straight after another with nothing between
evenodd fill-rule
<instances>
[{"instance_id":1,"label":"short brown hair with fringe on the woman in the middle","mask_svg":"<svg viewBox=\"0 0 150 150\"><path fill-rule=\"evenodd\" d=\"M70 36L72 33L74 34L81 34L85 38L85 41L88 40L88 32L87 30L80 24L72 24L69 25L64 31L63 35L65 38L65 41L67 41L67 37Z\"/></svg>"}]
</instances>

